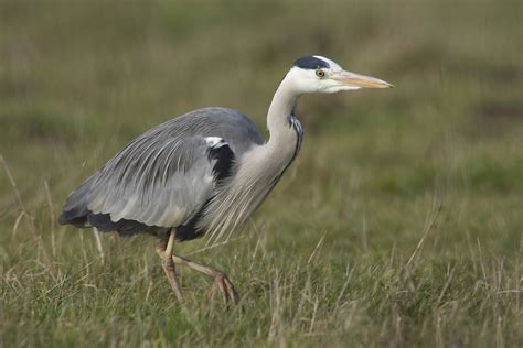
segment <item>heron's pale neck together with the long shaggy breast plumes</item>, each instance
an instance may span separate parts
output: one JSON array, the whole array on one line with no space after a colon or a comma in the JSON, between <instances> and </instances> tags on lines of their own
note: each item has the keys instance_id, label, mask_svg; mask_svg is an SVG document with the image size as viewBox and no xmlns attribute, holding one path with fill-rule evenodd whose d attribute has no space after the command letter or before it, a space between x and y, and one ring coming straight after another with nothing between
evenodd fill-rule
<instances>
[{"instance_id":1,"label":"heron's pale neck together with the long shaggy breast plumes","mask_svg":"<svg viewBox=\"0 0 523 348\"><path fill-rule=\"evenodd\" d=\"M301 126L291 118L298 98L291 79L286 77L267 113L269 140L243 155L236 175L213 198L211 214L201 222L211 230L210 240L218 240L242 225L295 159L301 142Z\"/></svg>"}]
</instances>

